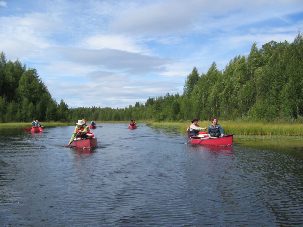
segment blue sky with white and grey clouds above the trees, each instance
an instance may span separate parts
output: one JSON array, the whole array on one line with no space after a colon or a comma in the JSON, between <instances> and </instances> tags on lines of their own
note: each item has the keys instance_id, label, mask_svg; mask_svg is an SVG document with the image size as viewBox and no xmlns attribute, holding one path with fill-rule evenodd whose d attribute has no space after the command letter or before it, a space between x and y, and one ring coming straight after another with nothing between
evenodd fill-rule
<instances>
[{"instance_id":1,"label":"blue sky with white and grey clouds above the trees","mask_svg":"<svg viewBox=\"0 0 303 227\"><path fill-rule=\"evenodd\" d=\"M69 107L125 108L181 95L188 74L219 70L303 31L302 0L0 0L0 51L37 69Z\"/></svg>"}]
</instances>

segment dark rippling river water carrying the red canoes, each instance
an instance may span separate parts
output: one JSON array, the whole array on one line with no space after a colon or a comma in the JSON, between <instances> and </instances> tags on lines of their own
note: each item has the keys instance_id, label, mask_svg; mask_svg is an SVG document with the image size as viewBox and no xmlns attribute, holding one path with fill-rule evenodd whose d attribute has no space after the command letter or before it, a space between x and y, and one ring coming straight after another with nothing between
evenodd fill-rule
<instances>
[{"instance_id":1,"label":"dark rippling river water carrying the red canoes","mask_svg":"<svg viewBox=\"0 0 303 227\"><path fill-rule=\"evenodd\" d=\"M138 124L0 132L0 226L303 226L303 142L193 146ZM101 126L99 124L99 126Z\"/></svg>"}]
</instances>

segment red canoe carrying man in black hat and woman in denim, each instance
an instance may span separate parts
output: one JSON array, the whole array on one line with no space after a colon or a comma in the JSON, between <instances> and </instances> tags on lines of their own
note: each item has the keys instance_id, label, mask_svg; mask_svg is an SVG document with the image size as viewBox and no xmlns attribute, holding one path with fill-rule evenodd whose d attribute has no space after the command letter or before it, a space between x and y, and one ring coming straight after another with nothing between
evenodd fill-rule
<instances>
[{"instance_id":1,"label":"red canoe carrying man in black hat and woman in denim","mask_svg":"<svg viewBox=\"0 0 303 227\"><path fill-rule=\"evenodd\" d=\"M234 134L225 135L223 137L203 137L204 135L199 136L189 136L189 128L187 129L188 142L198 145L213 145L213 146L232 146L232 137Z\"/></svg>"}]
</instances>

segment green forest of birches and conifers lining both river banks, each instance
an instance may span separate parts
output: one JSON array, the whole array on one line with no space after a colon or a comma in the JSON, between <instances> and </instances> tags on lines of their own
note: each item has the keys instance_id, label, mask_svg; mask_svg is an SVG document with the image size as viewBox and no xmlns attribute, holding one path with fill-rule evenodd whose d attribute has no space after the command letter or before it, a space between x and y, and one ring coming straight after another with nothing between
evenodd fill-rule
<instances>
[{"instance_id":1,"label":"green forest of birches and conifers lining both river banks","mask_svg":"<svg viewBox=\"0 0 303 227\"><path fill-rule=\"evenodd\" d=\"M248 56L236 56L224 70L213 62L206 74L196 67L187 76L182 95L149 97L145 104L68 108L52 98L34 68L7 61L0 54L0 122L39 121L187 121L210 120L303 122L303 35L293 43L270 41Z\"/></svg>"}]
</instances>

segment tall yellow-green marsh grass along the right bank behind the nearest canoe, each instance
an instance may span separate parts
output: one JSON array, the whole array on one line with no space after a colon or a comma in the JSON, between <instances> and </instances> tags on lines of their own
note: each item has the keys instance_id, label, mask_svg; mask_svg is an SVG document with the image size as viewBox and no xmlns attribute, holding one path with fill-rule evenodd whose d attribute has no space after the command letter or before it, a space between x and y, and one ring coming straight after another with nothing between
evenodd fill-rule
<instances>
[{"instance_id":1,"label":"tall yellow-green marsh grass along the right bank behind the nearest canoe","mask_svg":"<svg viewBox=\"0 0 303 227\"><path fill-rule=\"evenodd\" d=\"M235 135L258 135L258 136L303 136L303 124L298 123L261 123L261 122L235 122L235 121L219 121L218 122L225 134ZM181 132L186 132L190 126L189 123L178 122L154 122L154 127L174 127ZM199 121L200 127L208 127L210 122Z\"/></svg>"}]
</instances>

